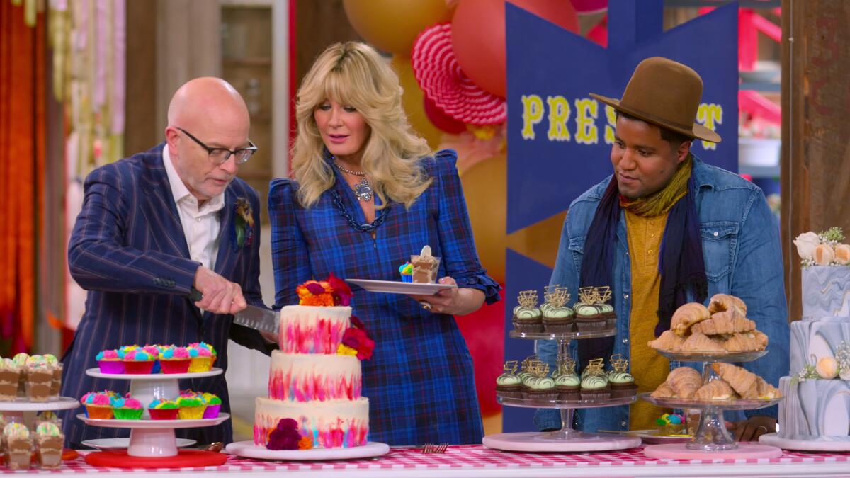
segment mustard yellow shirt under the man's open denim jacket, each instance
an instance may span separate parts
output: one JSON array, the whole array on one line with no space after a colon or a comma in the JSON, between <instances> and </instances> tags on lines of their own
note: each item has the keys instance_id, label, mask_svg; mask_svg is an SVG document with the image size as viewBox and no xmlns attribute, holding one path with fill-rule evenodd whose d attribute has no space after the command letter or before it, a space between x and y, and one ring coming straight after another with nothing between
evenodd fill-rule
<instances>
[{"instance_id":1,"label":"mustard yellow shirt under the man's open denim jacket","mask_svg":"<svg viewBox=\"0 0 850 478\"><path fill-rule=\"evenodd\" d=\"M629 316L632 376L638 393L651 392L667 378L670 361L646 344L655 339L661 275L658 258L667 214L642 217L626 210L629 258L632 266L632 311ZM638 400L629 413L629 430L657 428L655 418L669 409Z\"/></svg>"}]
</instances>

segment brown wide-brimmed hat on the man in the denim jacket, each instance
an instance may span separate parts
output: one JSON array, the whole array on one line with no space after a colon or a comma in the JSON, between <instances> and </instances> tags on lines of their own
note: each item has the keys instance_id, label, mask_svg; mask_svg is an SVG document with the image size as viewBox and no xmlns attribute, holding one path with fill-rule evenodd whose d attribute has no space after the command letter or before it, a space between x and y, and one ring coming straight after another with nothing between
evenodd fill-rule
<instances>
[{"instance_id":1,"label":"brown wide-brimmed hat on the man in the denim jacket","mask_svg":"<svg viewBox=\"0 0 850 478\"><path fill-rule=\"evenodd\" d=\"M720 142L720 135L694 122L702 97L702 78L689 66L654 56L640 62L622 100L590 94L632 117L690 138Z\"/></svg>"}]
</instances>

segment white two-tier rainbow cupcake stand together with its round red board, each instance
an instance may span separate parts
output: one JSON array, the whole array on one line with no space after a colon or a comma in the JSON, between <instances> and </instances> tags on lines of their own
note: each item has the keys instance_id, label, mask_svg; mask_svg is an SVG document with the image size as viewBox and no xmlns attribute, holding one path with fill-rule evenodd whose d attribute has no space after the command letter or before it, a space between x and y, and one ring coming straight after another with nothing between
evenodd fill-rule
<instances>
[{"instance_id":1,"label":"white two-tier rainbow cupcake stand together with its round red board","mask_svg":"<svg viewBox=\"0 0 850 478\"><path fill-rule=\"evenodd\" d=\"M154 399L167 398L172 400L180 395L178 380L185 378L207 378L220 375L222 369L212 368L209 372L197 373L100 373L99 368L89 368L86 374L94 378L106 378L111 380L130 380L130 395L147 406ZM86 461L89 464L99 466L130 466L138 463L137 460L129 458L148 458L151 463L156 463L156 458L178 457L182 466L208 466L224 463L224 453L204 452L198 450L178 450L175 429L199 428L214 426L224 423L230 418L229 413L219 413L218 418L201 418L197 420L151 420L150 413L144 408L142 419L139 420L117 420L117 419L93 419L84 413L77 415L87 425L106 428L128 428L130 441L127 451L109 451L99 453L88 453Z\"/></svg>"}]
</instances>

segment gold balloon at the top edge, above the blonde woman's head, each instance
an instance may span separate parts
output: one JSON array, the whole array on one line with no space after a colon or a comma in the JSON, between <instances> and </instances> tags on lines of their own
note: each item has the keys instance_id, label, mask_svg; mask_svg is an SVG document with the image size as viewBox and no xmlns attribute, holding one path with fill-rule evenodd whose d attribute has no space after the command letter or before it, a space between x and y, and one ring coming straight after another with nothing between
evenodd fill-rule
<instances>
[{"instance_id":1,"label":"gold balloon at the top edge, above the blonde woman's head","mask_svg":"<svg viewBox=\"0 0 850 478\"><path fill-rule=\"evenodd\" d=\"M451 17L445 0L343 0L343 7L351 26L366 42L407 56L420 31Z\"/></svg>"}]
</instances>

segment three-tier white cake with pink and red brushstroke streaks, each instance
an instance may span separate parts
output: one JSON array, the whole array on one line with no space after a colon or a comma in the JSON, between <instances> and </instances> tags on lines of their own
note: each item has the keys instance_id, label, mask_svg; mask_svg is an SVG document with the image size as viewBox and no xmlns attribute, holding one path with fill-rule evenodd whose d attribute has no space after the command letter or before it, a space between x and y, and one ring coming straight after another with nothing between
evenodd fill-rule
<instances>
[{"instance_id":1,"label":"three-tier white cake with pink and red brushstroke streaks","mask_svg":"<svg viewBox=\"0 0 850 478\"><path fill-rule=\"evenodd\" d=\"M366 444L369 400L360 395L359 358L365 357L346 345L352 344L353 328L348 306L289 305L280 310L280 350L271 356L269 397L257 398L256 445L267 445L282 418L296 420L298 432L312 439L313 447ZM364 338L360 333L360 343L371 343Z\"/></svg>"}]
</instances>

